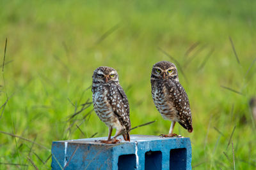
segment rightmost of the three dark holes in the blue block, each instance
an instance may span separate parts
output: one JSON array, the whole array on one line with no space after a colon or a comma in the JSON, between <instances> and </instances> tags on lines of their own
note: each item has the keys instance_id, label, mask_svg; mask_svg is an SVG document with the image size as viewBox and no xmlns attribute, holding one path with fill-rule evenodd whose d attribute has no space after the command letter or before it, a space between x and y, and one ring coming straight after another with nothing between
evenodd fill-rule
<instances>
[{"instance_id":1,"label":"rightmost of the three dark holes in the blue block","mask_svg":"<svg viewBox=\"0 0 256 170\"><path fill-rule=\"evenodd\" d=\"M179 148L170 150L170 169L186 169L187 149Z\"/></svg>"}]
</instances>

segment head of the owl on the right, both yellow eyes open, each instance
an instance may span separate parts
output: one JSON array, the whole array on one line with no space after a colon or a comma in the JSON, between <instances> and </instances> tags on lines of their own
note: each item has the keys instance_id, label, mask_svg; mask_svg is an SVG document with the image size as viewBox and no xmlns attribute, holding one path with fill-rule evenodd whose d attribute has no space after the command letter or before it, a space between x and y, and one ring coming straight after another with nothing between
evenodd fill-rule
<instances>
[{"instance_id":1,"label":"head of the owl on the right, both yellow eyes open","mask_svg":"<svg viewBox=\"0 0 256 170\"><path fill-rule=\"evenodd\" d=\"M175 64L168 61L160 61L152 67L151 78L154 79L172 79L179 81L179 75Z\"/></svg>"}]
</instances>

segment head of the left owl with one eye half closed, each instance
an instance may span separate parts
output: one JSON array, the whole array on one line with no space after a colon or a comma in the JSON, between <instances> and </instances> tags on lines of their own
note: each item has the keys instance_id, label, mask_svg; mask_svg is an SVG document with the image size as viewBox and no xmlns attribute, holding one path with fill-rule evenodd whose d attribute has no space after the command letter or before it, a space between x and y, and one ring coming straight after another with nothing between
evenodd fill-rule
<instances>
[{"instance_id":1,"label":"head of the left owl with one eye half closed","mask_svg":"<svg viewBox=\"0 0 256 170\"><path fill-rule=\"evenodd\" d=\"M93 71L93 83L118 82L118 74L112 67L100 66Z\"/></svg>"}]
</instances>

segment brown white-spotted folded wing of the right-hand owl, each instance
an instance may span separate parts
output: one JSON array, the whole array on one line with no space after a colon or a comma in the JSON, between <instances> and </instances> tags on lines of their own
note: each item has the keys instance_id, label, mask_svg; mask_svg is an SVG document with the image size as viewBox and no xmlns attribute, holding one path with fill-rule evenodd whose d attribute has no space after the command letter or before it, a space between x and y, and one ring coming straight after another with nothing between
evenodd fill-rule
<instances>
[{"instance_id":1,"label":"brown white-spotted folded wing of the right-hand owl","mask_svg":"<svg viewBox=\"0 0 256 170\"><path fill-rule=\"evenodd\" d=\"M192 127L191 110L189 106L188 95L185 89L179 82L170 82L172 87L170 89L170 101L174 104L179 118L179 124L185 129Z\"/></svg>"}]
</instances>

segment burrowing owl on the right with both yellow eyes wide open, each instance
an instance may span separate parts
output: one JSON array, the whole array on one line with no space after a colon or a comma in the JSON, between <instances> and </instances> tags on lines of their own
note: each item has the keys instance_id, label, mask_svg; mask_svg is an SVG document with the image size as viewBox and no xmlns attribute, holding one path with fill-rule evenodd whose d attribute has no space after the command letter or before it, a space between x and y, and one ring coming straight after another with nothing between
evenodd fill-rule
<instances>
[{"instance_id":1,"label":"burrowing owl on the right with both yellow eyes wide open","mask_svg":"<svg viewBox=\"0 0 256 170\"><path fill-rule=\"evenodd\" d=\"M177 134L173 134L175 122L179 122L182 127L188 129L188 132L192 132L188 95L180 85L175 64L168 61L154 64L150 81L152 97L157 110L164 119L172 121L169 134L162 136L177 136Z\"/></svg>"}]
</instances>

